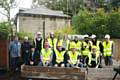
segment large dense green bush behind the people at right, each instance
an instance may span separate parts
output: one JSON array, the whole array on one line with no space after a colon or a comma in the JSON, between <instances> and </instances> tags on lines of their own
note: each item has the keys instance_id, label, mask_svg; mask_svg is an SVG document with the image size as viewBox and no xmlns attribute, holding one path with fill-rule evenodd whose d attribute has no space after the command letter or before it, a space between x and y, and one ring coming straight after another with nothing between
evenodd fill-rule
<instances>
[{"instance_id":1,"label":"large dense green bush behind the people at right","mask_svg":"<svg viewBox=\"0 0 120 80\"><path fill-rule=\"evenodd\" d=\"M120 12L105 13L104 9L98 9L96 13L80 11L72 22L78 34L96 34L99 38L110 34L112 38L120 38Z\"/></svg>"}]
</instances>

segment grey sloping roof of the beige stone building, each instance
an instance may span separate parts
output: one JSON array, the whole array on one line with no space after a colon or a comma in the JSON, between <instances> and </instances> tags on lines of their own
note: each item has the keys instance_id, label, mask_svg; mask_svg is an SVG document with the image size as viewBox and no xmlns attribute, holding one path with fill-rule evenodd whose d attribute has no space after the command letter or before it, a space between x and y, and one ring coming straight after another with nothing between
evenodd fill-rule
<instances>
[{"instance_id":1,"label":"grey sloping roof of the beige stone building","mask_svg":"<svg viewBox=\"0 0 120 80\"><path fill-rule=\"evenodd\" d=\"M38 7L38 8L33 8L33 9L28 9L19 12L20 14L33 14L33 15L45 15L45 16L56 16L56 17L69 17L68 15L64 14L63 11L56 11L56 10L51 10L48 9L44 6Z\"/></svg>"}]
</instances>

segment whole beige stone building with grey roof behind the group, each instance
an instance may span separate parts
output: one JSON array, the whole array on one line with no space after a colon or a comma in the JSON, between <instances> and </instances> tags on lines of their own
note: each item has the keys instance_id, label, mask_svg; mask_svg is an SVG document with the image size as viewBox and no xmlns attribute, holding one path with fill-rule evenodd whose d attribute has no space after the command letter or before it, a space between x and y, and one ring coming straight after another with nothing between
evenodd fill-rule
<instances>
[{"instance_id":1,"label":"whole beige stone building with grey roof behind the group","mask_svg":"<svg viewBox=\"0 0 120 80\"><path fill-rule=\"evenodd\" d=\"M16 15L17 32L35 34L41 31L45 34L71 25L71 17L62 11L55 11L46 7L22 9Z\"/></svg>"}]
</instances>

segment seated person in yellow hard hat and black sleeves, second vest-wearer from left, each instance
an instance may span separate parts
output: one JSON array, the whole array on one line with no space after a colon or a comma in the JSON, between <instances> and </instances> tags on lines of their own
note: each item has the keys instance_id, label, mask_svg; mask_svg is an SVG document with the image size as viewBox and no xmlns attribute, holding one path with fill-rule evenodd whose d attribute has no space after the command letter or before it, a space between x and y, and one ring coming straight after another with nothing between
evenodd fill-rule
<instances>
[{"instance_id":1,"label":"seated person in yellow hard hat and black sleeves, second vest-wearer from left","mask_svg":"<svg viewBox=\"0 0 120 80\"><path fill-rule=\"evenodd\" d=\"M62 47L62 42L57 42L57 47L54 47L54 56L53 59L55 60L53 62L55 67L65 67L65 53L66 51Z\"/></svg>"}]
</instances>

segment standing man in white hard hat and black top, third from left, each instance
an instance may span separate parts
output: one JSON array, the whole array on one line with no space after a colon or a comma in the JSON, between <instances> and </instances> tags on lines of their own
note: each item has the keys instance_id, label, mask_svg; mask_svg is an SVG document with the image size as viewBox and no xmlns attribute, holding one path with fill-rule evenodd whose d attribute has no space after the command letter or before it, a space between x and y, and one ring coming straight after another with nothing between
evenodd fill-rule
<instances>
[{"instance_id":1,"label":"standing man in white hard hat and black top, third from left","mask_svg":"<svg viewBox=\"0 0 120 80\"><path fill-rule=\"evenodd\" d=\"M41 32L37 32L36 34L36 38L34 39L34 47L35 47L35 51L37 51L38 53L41 52L42 49L42 44L43 44L43 39L42 39L42 34Z\"/></svg>"}]
</instances>

